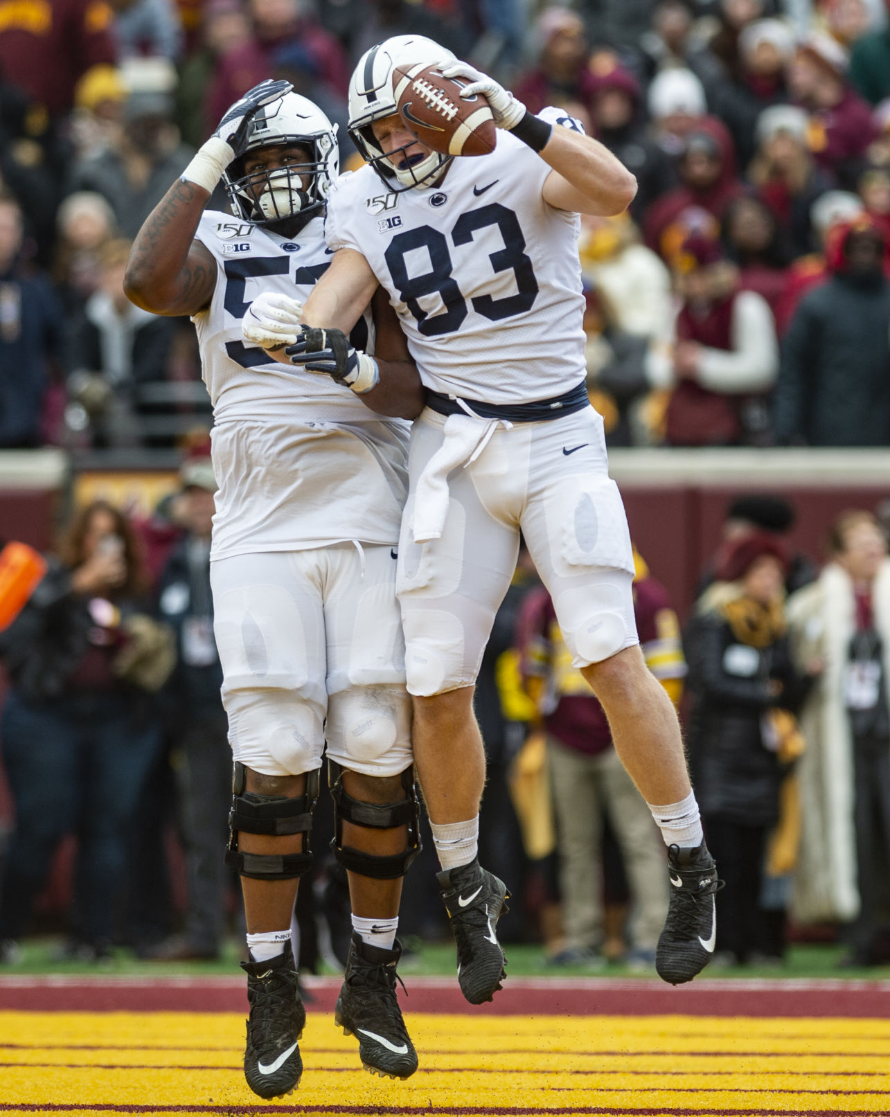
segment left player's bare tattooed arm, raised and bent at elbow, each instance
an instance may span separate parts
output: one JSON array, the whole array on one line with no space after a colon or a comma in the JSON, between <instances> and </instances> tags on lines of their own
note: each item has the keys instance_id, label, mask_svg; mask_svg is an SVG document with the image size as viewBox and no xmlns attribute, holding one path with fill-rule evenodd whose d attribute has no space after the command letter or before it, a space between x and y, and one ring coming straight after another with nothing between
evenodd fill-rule
<instances>
[{"instance_id":1,"label":"left player's bare tattooed arm, raised and bent at elbow","mask_svg":"<svg viewBox=\"0 0 890 1117\"><path fill-rule=\"evenodd\" d=\"M194 235L210 194L173 183L145 219L130 250L124 290L152 314L197 314L213 297L217 264Z\"/></svg>"}]
</instances>

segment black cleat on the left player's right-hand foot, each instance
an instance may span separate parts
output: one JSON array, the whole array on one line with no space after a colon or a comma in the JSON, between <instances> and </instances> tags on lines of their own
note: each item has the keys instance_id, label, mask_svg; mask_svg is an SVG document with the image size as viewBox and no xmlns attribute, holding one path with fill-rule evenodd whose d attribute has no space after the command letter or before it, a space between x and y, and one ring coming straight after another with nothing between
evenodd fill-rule
<instances>
[{"instance_id":1,"label":"black cleat on the left player's right-hand foot","mask_svg":"<svg viewBox=\"0 0 890 1117\"><path fill-rule=\"evenodd\" d=\"M418 1069L418 1053L395 994L395 967L401 956L398 941L391 951L384 951L354 934L334 1010L337 1028L358 1040L362 1066L381 1078L410 1078Z\"/></svg>"}]
</instances>

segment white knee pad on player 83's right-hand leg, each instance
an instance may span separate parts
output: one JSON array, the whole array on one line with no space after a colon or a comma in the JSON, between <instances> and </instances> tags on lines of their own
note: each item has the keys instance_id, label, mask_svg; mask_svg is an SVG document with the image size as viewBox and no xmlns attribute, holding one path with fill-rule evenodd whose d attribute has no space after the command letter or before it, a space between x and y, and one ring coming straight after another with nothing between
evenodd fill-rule
<instances>
[{"instance_id":1,"label":"white knee pad on player 83's right-hand leg","mask_svg":"<svg viewBox=\"0 0 890 1117\"><path fill-rule=\"evenodd\" d=\"M633 618L633 576L601 571L584 586L554 598L554 609L575 667L590 667L638 643Z\"/></svg>"}]
</instances>

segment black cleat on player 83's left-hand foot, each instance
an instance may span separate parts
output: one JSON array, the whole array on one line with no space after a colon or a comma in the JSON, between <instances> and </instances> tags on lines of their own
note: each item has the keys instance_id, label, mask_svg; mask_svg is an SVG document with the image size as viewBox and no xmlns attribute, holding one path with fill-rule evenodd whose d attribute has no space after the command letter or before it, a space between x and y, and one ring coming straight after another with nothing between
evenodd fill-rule
<instances>
[{"instance_id":1,"label":"black cleat on player 83's left-hand foot","mask_svg":"<svg viewBox=\"0 0 890 1117\"><path fill-rule=\"evenodd\" d=\"M510 894L503 880L481 868L478 858L446 869L436 879L458 947L460 991L470 1004L482 1004L494 999L507 976L507 960L495 927L509 910Z\"/></svg>"}]
</instances>

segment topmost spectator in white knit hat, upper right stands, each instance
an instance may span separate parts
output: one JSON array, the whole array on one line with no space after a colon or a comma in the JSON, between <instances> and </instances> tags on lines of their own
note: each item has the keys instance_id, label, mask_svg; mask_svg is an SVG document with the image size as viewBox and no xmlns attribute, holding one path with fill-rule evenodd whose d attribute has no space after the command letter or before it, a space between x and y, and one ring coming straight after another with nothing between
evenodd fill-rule
<instances>
[{"instance_id":1,"label":"topmost spectator in white knit hat, upper right stands","mask_svg":"<svg viewBox=\"0 0 890 1117\"><path fill-rule=\"evenodd\" d=\"M788 99L785 67L794 52L794 35L777 19L758 19L739 35L738 50L738 77L717 84L709 104L733 133L739 164L747 166L758 116Z\"/></svg>"}]
</instances>

